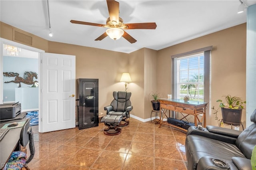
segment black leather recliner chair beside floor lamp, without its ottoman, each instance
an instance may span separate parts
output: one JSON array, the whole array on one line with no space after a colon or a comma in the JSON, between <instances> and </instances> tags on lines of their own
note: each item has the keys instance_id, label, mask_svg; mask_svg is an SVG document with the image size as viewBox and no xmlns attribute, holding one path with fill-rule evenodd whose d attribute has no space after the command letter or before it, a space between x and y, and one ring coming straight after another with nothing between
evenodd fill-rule
<instances>
[{"instance_id":1,"label":"black leather recliner chair beside floor lamp, without its ottoman","mask_svg":"<svg viewBox=\"0 0 256 170\"><path fill-rule=\"evenodd\" d=\"M104 107L104 110L107 111L107 115L114 116L123 116L122 121L124 124L120 124L120 126L126 126L129 124L127 120L130 117L130 111L132 111L132 103L130 101L132 93L127 91L114 91L113 92L113 101L109 106Z\"/></svg>"}]
</instances>

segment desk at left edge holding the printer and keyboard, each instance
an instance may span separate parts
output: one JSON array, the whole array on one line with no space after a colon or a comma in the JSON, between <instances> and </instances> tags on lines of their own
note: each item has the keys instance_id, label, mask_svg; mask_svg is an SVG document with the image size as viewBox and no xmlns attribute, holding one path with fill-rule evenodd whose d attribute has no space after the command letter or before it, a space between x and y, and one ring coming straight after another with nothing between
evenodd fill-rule
<instances>
[{"instance_id":1,"label":"desk at left edge holding the printer and keyboard","mask_svg":"<svg viewBox=\"0 0 256 170\"><path fill-rule=\"evenodd\" d=\"M0 127L2 128L6 123L21 122L21 121L24 121L24 120L20 119L16 121L4 122L0 124ZM1 155L0 169L3 168L3 165L8 161L9 157L11 156L12 152L16 148L17 144L19 144L21 129L22 127L9 129L7 134L0 141L0 155Z\"/></svg>"}]
</instances>

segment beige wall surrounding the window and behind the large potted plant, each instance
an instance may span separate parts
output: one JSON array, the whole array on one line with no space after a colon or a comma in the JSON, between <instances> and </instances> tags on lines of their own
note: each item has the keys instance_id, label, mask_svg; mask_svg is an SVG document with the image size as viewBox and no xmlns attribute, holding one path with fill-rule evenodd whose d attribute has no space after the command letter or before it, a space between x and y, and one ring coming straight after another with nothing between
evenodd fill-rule
<instances>
[{"instance_id":1,"label":"beige wall surrounding the window and behind the large potted plant","mask_svg":"<svg viewBox=\"0 0 256 170\"><path fill-rule=\"evenodd\" d=\"M246 99L246 23L215 32L158 51L158 84L162 94L171 93L171 55L213 45L210 58L210 105L218 108L217 99L235 95ZM246 112L242 122L245 124ZM221 111L218 112L219 119ZM207 113L208 124L217 125Z\"/></svg>"}]
</instances>

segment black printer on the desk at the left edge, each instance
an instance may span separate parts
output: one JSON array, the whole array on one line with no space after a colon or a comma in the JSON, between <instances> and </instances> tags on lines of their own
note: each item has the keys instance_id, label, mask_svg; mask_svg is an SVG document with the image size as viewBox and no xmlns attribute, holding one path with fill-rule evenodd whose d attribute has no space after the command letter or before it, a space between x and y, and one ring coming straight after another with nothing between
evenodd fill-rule
<instances>
[{"instance_id":1,"label":"black printer on the desk at the left edge","mask_svg":"<svg viewBox=\"0 0 256 170\"><path fill-rule=\"evenodd\" d=\"M19 102L0 104L0 120L13 119L20 113L21 104Z\"/></svg>"}]
</instances>

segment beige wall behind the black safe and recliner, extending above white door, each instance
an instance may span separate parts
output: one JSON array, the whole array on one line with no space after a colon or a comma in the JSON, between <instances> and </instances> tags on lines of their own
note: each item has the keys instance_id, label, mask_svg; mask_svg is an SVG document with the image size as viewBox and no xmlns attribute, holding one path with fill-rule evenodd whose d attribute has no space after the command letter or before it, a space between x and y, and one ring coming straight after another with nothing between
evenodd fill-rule
<instances>
[{"instance_id":1,"label":"beige wall behind the black safe and recliner, extending above white door","mask_svg":"<svg viewBox=\"0 0 256 170\"><path fill-rule=\"evenodd\" d=\"M75 55L76 79L99 79L99 112L106 112L104 106L110 105L113 91L124 91L120 79L128 71L127 53L58 42L49 42L48 52Z\"/></svg>"}]
</instances>

